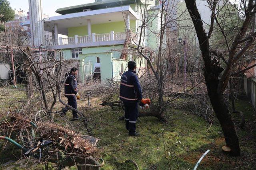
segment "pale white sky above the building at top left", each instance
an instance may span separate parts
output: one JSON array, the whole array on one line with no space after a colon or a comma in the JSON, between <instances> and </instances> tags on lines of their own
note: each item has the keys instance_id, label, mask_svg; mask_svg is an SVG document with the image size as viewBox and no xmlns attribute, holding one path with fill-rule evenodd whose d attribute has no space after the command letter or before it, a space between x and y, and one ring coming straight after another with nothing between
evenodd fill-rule
<instances>
[{"instance_id":1,"label":"pale white sky above the building at top left","mask_svg":"<svg viewBox=\"0 0 256 170\"><path fill-rule=\"evenodd\" d=\"M95 2L95 0L41 0L43 13L48 16L58 16L60 14L55 13L58 8L64 8L68 6L75 6L81 4L88 4ZM28 12L28 0L9 0L12 9L24 10Z\"/></svg>"}]
</instances>

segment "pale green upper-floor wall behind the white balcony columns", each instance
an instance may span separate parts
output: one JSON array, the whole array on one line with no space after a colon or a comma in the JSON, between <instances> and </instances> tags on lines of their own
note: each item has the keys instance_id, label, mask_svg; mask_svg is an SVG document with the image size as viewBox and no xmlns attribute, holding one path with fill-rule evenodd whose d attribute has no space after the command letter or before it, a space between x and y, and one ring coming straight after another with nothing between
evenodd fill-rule
<instances>
[{"instance_id":1,"label":"pale green upper-floor wall behind the white balcony columns","mask_svg":"<svg viewBox=\"0 0 256 170\"><path fill-rule=\"evenodd\" d=\"M130 28L132 31L135 31L135 20L130 20ZM125 32L125 23L124 21L119 22L109 22L109 23L101 23L94 24L91 26L92 33L102 34L102 33L110 33L110 31L114 32ZM87 25L81 27L70 27L68 28L68 37L74 37L75 35L84 36L88 35Z\"/></svg>"}]
</instances>

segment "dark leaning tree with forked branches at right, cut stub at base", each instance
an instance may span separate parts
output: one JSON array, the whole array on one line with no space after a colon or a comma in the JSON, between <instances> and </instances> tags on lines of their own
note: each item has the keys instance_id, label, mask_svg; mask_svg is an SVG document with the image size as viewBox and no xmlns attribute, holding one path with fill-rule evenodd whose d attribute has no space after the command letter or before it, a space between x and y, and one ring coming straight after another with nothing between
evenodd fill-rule
<instances>
[{"instance_id":1,"label":"dark leaning tree with forked branches at right, cut stub at base","mask_svg":"<svg viewBox=\"0 0 256 170\"><path fill-rule=\"evenodd\" d=\"M227 101L224 98L224 91L228 86L234 64L238 62L238 60L244 55L244 53L246 53L255 41L256 33L251 32L248 28L254 18L256 4L253 0L241 1L242 7L244 7L244 12L241 12L241 8L238 10L243 14L244 20L242 21L242 26L239 27L238 32L235 33L234 39L232 39L232 43L230 45L226 36L227 34L223 30L223 25L218 19L220 10L224 9L218 6L218 0L208 0L209 8L212 11L208 34L204 29L201 15L196 6L196 0L185 0L185 2L190 17L192 18L202 52L202 58L204 60L204 77L212 107L214 108L216 116L222 127L226 146L231 149L229 153L233 156L240 156L236 127L229 111ZM225 2L226 4L229 4L228 1ZM216 23L216 27L214 23ZM209 39L211 38L214 29L218 29L222 33L228 53L227 59L220 56L221 54L218 51L217 53L214 53L211 49ZM248 31L251 33L248 34ZM224 66L221 66L218 57L223 60L225 63Z\"/></svg>"}]
</instances>

